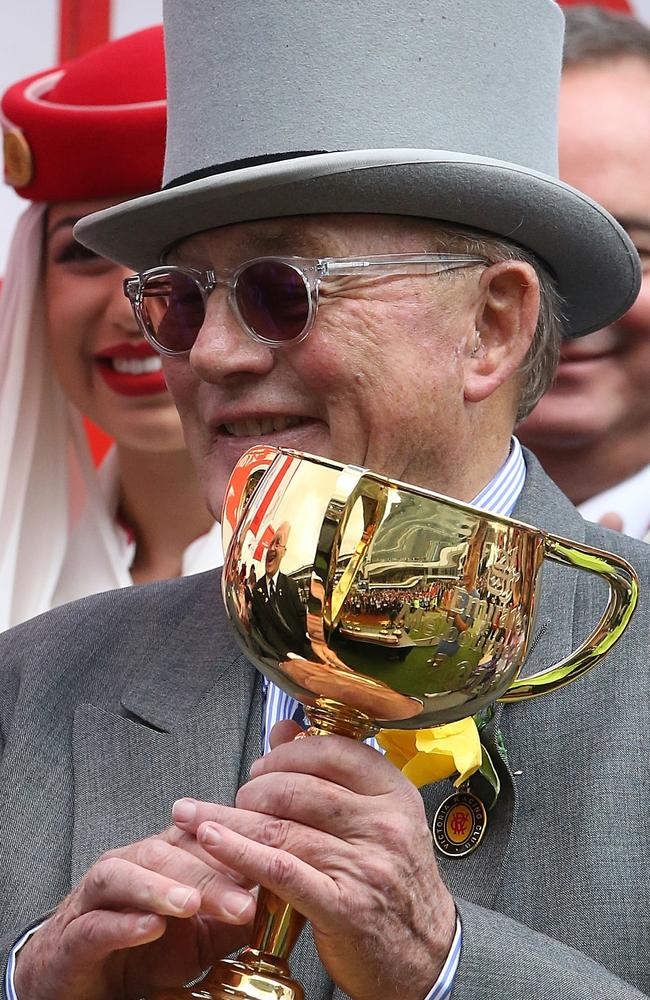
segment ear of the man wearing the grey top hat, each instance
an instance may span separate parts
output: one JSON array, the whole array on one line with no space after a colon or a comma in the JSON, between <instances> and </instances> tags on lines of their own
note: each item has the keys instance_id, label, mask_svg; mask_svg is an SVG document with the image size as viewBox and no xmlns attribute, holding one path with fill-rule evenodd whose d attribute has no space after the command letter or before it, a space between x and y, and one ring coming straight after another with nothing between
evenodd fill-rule
<instances>
[{"instance_id":1,"label":"ear of the man wearing the grey top hat","mask_svg":"<svg viewBox=\"0 0 650 1000\"><path fill-rule=\"evenodd\" d=\"M521 260L504 260L483 271L475 332L467 346L465 399L480 403L518 371L537 326L539 281Z\"/></svg>"}]
</instances>

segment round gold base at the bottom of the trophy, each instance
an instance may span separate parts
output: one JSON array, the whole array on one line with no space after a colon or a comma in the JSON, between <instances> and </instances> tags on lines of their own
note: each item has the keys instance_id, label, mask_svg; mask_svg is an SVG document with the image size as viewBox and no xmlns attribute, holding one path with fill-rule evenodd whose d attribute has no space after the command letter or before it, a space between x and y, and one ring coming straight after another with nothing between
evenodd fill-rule
<instances>
[{"instance_id":1,"label":"round gold base at the bottom of the trophy","mask_svg":"<svg viewBox=\"0 0 650 1000\"><path fill-rule=\"evenodd\" d=\"M248 959L248 961L246 961ZM157 993L156 1000L305 1000L281 958L249 949L241 959L224 959L196 986Z\"/></svg>"}]
</instances>

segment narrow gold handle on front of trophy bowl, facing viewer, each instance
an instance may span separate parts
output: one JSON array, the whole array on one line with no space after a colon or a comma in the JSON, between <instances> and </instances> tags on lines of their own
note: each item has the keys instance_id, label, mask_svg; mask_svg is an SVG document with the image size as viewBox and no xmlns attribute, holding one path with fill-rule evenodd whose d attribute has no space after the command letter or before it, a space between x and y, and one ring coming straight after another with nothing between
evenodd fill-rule
<instances>
[{"instance_id":1,"label":"narrow gold handle on front of trophy bowl, facing viewer","mask_svg":"<svg viewBox=\"0 0 650 1000\"><path fill-rule=\"evenodd\" d=\"M385 485L363 475L361 469L345 468L336 481L321 526L314 572L325 585L323 620L328 627L336 624L350 587L381 523L388 490ZM363 531L339 580L334 583L341 541L357 502L363 505Z\"/></svg>"}]
</instances>

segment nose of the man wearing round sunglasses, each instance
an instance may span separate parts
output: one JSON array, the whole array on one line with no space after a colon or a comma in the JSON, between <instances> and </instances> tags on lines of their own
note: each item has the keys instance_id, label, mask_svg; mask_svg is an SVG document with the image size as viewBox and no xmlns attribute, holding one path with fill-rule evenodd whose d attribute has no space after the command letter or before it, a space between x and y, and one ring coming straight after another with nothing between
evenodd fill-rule
<instances>
[{"instance_id":1,"label":"nose of the man wearing round sunglasses","mask_svg":"<svg viewBox=\"0 0 650 1000\"><path fill-rule=\"evenodd\" d=\"M275 364L275 354L242 329L227 291L216 288L208 298L189 361L203 381L220 382L238 375L266 375Z\"/></svg>"}]
</instances>

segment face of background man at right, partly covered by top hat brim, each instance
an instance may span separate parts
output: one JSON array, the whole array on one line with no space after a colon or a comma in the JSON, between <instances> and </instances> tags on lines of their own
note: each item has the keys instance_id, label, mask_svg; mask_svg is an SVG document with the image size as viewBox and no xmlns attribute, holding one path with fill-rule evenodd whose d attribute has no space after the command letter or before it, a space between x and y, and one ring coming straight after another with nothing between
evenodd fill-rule
<instances>
[{"instance_id":1,"label":"face of background man at right, partly covered by top hat brim","mask_svg":"<svg viewBox=\"0 0 650 1000\"><path fill-rule=\"evenodd\" d=\"M569 69L560 94L560 176L627 229L643 284L616 324L565 345L556 384L521 437L549 449L641 440L650 434L650 63Z\"/></svg>"}]
</instances>

